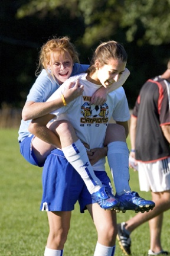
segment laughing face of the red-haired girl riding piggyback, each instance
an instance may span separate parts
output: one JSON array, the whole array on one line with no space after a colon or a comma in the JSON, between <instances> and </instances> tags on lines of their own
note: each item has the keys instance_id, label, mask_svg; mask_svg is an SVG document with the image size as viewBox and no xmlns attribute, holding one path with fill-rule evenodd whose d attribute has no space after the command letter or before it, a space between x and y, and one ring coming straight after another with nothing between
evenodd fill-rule
<instances>
[{"instance_id":1,"label":"laughing face of the red-haired girl riding piggyback","mask_svg":"<svg viewBox=\"0 0 170 256\"><path fill-rule=\"evenodd\" d=\"M63 84L73 71L73 60L68 52L52 52L48 69L55 76L59 84Z\"/></svg>"}]
</instances>

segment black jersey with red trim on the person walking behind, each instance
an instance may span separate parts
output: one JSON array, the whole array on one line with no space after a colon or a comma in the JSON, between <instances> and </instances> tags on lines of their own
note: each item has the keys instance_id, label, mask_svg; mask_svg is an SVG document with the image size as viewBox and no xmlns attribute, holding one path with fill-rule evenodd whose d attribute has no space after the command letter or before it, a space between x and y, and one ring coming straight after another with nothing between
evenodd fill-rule
<instances>
[{"instance_id":1,"label":"black jersey with red trim on the person walking behind","mask_svg":"<svg viewBox=\"0 0 170 256\"><path fill-rule=\"evenodd\" d=\"M135 140L135 157L152 162L170 156L169 142L161 126L170 125L170 84L159 76L149 79L140 89L133 108L138 118Z\"/></svg>"}]
</instances>

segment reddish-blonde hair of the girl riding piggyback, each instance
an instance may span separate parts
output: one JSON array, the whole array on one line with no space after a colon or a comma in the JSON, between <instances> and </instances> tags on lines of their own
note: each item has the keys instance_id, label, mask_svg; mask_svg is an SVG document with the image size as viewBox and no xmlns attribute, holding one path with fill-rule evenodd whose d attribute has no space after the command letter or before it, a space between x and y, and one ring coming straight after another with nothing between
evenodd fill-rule
<instances>
[{"instance_id":1,"label":"reddish-blonde hair of the girl riding piggyback","mask_svg":"<svg viewBox=\"0 0 170 256\"><path fill-rule=\"evenodd\" d=\"M36 75L39 75L42 69L48 72L50 56L53 52L58 52L58 56L60 54L64 56L66 53L69 53L73 63L79 63L79 55L74 45L70 42L70 39L68 37L53 37L53 39L48 40L47 43L41 47L39 63L35 72Z\"/></svg>"}]
</instances>

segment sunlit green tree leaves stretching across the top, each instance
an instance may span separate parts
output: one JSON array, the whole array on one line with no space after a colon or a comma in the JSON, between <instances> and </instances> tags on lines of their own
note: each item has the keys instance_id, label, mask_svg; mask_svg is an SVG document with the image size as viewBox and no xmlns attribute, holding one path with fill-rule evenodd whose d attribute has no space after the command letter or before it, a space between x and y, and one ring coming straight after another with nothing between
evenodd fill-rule
<instances>
[{"instance_id":1,"label":"sunlit green tree leaves stretching across the top","mask_svg":"<svg viewBox=\"0 0 170 256\"><path fill-rule=\"evenodd\" d=\"M138 45L161 45L170 41L170 1L161 0L31 0L18 9L18 17L35 14L45 15L64 7L70 15L83 15L86 30L83 43L113 37L118 28L125 28L126 40L136 40ZM139 36L140 35L140 36ZM136 39L137 37L137 39Z\"/></svg>"}]
</instances>

